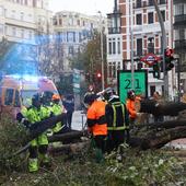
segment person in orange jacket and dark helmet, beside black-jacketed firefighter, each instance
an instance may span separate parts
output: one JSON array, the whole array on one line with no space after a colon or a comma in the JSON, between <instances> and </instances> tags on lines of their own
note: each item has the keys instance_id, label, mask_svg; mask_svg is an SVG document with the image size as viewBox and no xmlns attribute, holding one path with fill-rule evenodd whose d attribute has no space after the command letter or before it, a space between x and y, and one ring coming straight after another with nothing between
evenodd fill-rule
<instances>
[{"instance_id":1,"label":"person in orange jacket and dark helmet, beside black-jacketed firefighter","mask_svg":"<svg viewBox=\"0 0 186 186\"><path fill-rule=\"evenodd\" d=\"M84 104L88 105L88 127L93 136L96 150L96 161L103 160L105 152L105 140L107 136L107 124L105 118L105 102L97 101L94 93L86 93L84 95Z\"/></svg>"}]
</instances>

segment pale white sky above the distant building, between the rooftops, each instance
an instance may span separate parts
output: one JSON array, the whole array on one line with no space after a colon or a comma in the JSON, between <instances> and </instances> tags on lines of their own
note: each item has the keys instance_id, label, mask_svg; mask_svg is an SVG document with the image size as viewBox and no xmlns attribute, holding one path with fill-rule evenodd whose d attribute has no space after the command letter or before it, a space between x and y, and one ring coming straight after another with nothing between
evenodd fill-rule
<instances>
[{"instance_id":1,"label":"pale white sky above the distant building, between the rooftops","mask_svg":"<svg viewBox=\"0 0 186 186\"><path fill-rule=\"evenodd\" d=\"M95 15L98 11L103 15L112 13L114 0L49 0L49 10L53 12L68 10L89 15Z\"/></svg>"}]
</instances>

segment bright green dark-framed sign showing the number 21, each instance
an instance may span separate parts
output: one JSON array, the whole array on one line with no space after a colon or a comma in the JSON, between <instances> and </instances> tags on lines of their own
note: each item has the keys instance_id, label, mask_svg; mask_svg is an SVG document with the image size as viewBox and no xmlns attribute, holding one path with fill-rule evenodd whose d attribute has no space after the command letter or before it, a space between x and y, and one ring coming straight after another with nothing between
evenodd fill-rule
<instances>
[{"instance_id":1,"label":"bright green dark-framed sign showing the number 21","mask_svg":"<svg viewBox=\"0 0 186 186\"><path fill-rule=\"evenodd\" d=\"M131 82L130 70L119 70L117 75L118 81L118 95L125 103L127 98L127 92L135 90L137 95L148 96L148 72L146 70L136 70L133 73L133 89Z\"/></svg>"}]
</instances>

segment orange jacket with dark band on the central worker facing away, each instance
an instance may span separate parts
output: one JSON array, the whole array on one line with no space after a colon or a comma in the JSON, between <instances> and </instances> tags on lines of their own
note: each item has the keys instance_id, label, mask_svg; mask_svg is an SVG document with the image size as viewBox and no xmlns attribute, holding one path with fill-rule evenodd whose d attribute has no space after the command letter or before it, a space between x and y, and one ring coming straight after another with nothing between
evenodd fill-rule
<instances>
[{"instance_id":1,"label":"orange jacket with dark band on the central worker facing away","mask_svg":"<svg viewBox=\"0 0 186 186\"><path fill-rule=\"evenodd\" d=\"M105 106L105 102L94 101L88 109L88 127L92 131L93 136L107 135Z\"/></svg>"}]
</instances>

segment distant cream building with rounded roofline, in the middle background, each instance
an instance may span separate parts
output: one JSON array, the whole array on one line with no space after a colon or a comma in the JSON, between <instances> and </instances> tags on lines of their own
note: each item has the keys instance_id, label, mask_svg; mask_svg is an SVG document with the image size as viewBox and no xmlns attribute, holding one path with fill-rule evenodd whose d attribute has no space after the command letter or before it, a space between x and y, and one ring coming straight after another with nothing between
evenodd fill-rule
<instances>
[{"instance_id":1,"label":"distant cream building with rounded roofline, in the middle background","mask_svg":"<svg viewBox=\"0 0 186 186\"><path fill-rule=\"evenodd\" d=\"M82 50L85 44L92 39L94 31L100 31L101 26L100 16L71 11L61 11L55 14L56 43L58 43L65 72L71 72L69 59Z\"/></svg>"}]
</instances>

